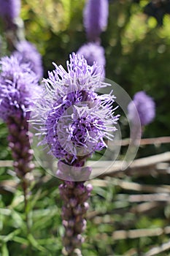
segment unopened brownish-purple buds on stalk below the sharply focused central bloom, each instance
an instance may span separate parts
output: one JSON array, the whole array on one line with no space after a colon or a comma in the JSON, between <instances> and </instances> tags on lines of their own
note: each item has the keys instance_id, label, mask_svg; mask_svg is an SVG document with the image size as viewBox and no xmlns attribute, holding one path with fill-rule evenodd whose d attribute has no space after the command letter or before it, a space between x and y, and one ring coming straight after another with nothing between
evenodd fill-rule
<instances>
[{"instance_id":1,"label":"unopened brownish-purple buds on stalk below the sharply focused central bloom","mask_svg":"<svg viewBox=\"0 0 170 256\"><path fill-rule=\"evenodd\" d=\"M60 185L60 194L63 199L62 219L65 227L63 246L66 255L81 255L80 252L84 238L81 233L85 230L85 213L88 211L88 198L93 189L92 185L85 186L82 181L64 181Z\"/></svg>"}]
</instances>

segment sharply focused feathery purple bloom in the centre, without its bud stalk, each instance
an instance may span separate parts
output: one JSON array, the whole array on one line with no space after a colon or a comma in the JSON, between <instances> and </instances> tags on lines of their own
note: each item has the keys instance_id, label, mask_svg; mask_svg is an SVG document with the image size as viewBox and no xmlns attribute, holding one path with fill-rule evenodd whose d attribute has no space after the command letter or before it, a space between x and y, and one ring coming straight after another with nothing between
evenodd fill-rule
<instances>
[{"instance_id":1,"label":"sharply focused feathery purple bloom in the centre, without its bud stalk","mask_svg":"<svg viewBox=\"0 0 170 256\"><path fill-rule=\"evenodd\" d=\"M50 146L58 159L72 164L106 147L112 138L118 116L113 116L114 96L98 95L95 89L108 86L101 79L102 69L89 66L83 56L73 53L67 69L55 65L45 79L45 94L35 102L34 124L40 125L40 144Z\"/></svg>"}]
</instances>

